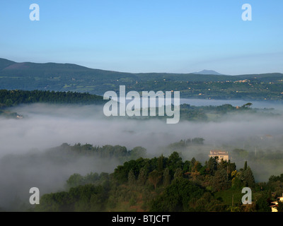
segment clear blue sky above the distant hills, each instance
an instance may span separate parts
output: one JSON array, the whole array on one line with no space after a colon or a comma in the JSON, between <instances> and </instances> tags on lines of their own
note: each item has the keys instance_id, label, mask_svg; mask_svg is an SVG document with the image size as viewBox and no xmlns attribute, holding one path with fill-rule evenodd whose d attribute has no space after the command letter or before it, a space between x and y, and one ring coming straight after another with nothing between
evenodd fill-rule
<instances>
[{"instance_id":1,"label":"clear blue sky above the distant hills","mask_svg":"<svg viewBox=\"0 0 283 226\"><path fill-rule=\"evenodd\" d=\"M40 6L40 21L29 18ZM252 6L243 21L242 5ZM283 73L282 0L2 0L0 57L127 72Z\"/></svg>"}]
</instances>

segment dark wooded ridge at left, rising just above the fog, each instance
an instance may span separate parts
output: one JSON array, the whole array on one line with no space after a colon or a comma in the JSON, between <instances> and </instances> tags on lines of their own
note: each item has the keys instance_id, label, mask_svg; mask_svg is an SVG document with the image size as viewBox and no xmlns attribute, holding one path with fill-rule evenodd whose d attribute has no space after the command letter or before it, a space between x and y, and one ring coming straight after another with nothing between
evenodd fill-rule
<instances>
[{"instance_id":1,"label":"dark wooded ridge at left, rising just above the fog","mask_svg":"<svg viewBox=\"0 0 283 226\"><path fill-rule=\"evenodd\" d=\"M102 104L103 97L89 93L42 90L0 90L0 107L12 107L37 102L52 104Z\"/></svg>"}]
</instances>

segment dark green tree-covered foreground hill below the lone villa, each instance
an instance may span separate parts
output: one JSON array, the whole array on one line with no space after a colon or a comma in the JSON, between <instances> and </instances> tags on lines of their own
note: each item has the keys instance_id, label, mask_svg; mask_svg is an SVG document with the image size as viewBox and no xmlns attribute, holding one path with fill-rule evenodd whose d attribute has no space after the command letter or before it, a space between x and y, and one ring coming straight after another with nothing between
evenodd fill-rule
<instances>
[{"instance_id":1,"label":"dark green tree-covered foreground hill below the lone villa","mask_svg":"<svg viewBox=\"0 0 283 226\"><path fill-rule=\"evenodd\" d=\"M253 207L231 206L215 196L231 190L241 193L245 186L260 192ZM168 157L129 160L112 174L73 174L67 191L43 195L34 210L119 211L139 206L145 211L270 211L262 190L247 162L236 169L235 163L211 157L202 165L195 158L183 161L173 152Z\"/></svg>"}]
</instances>

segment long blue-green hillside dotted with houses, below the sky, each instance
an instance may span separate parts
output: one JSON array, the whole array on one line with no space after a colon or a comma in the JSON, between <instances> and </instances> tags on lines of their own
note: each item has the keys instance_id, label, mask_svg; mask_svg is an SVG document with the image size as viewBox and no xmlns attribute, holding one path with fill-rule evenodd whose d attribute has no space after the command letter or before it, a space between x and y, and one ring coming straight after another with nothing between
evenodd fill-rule
<instances>
[{"instance_id":1,"label":"long blue-green hillside dotted with houses, below the sky","mask_svg":"<svg viewBox=\"0 0 283 226\"><path fill-rule=\"evenodd\" d=\"M0 89L55 90L103 95L127 90L178 90L183 98L282 100L283 74L238 76L196 73L125 73L76 64L16 63L0 59Z\"/></svg>"}]
</instances>

